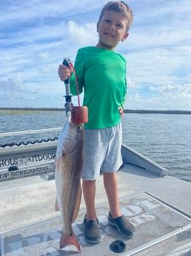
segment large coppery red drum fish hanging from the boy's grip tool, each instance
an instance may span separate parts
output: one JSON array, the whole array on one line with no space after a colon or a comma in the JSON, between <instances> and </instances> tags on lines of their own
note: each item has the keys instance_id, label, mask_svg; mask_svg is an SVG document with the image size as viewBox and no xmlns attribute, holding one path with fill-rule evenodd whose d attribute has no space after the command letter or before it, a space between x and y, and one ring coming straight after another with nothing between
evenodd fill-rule
<instances>
[{"instance_id":1,"label":"large coppery red drum fish hanging from the boy's grip tool","mask_svg":"<svg viewBox=\"0 0 191 256\"><path fill-rule=\"evenodd\" d=\"M73 232L81 203L81 171L83 165L84 125L67 120L58 138L55 162L55 180L58 206L63 229L60 249L65 246L81 247Z\"/></svg>"}]
</instances>

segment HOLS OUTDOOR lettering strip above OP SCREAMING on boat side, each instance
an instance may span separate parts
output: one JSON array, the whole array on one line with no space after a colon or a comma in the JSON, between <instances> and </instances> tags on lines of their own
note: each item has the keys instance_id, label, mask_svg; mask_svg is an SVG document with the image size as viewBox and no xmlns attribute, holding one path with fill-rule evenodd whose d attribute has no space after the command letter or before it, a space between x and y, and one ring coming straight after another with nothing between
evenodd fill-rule
<instances>
[{"instance_id":1,"label":"HOLS OUTDOOR lettering strip above OP SCREAMING on boat side","mask_svg":"<svg viewBox=\"0 0 191 256\"><path fill-rule=\"evenodd\" d=\"M14 157L9 159L1 159L0 168L9 167L12 165L27 165L30 163L50 161L50 160L54 160L55 157L56 157L55 153L49 153L49 154L37 154L34 156L22 156L22 157Z\"/></svg>"}]
</instances>

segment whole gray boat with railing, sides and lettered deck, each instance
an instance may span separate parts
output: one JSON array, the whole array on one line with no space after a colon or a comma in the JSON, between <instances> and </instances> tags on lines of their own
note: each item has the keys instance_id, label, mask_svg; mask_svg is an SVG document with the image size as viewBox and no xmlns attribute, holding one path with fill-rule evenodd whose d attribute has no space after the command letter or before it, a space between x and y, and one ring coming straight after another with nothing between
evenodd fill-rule
<instances>
[{"instance_id":1,"label":"whole gray boat with railing, sides and lettered deck","mask_svg":"<svg viewBox=\"0 0 191 256\"><path fill-rule=\"evenodd\" d=\"M16 134L0 134L0 137ZM1 256L79 255L73 246L59 249L61 217L54 210L56 145L54 138L0 146ZM82 198L78 218L73 223L81 255L191 255L191 183L172 177L166 168L128 145L122 145L121 154L123 166L118 171L121 213L135 225L136 232L127 239L108 225L107 196L100 174L96 181L96 211L102 239L98 244L84 240Z\"/></svg>"}]
</instances>

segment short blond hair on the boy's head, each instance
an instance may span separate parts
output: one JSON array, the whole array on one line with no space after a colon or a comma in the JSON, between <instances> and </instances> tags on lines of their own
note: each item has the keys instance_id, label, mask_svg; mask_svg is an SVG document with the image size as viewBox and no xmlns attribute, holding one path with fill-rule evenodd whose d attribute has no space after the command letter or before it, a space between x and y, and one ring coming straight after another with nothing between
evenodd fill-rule
<instances>
[{"instance_id":1,"label":"short blond hair on the boy's head","mask_svg":"<svg viewBox=\"0 0 191 256\"><path fill-rule=\"evenodd\" d=\"M113 10L114 12L122 13L124 18L127 19L127 31L130 30L130 26L133 23L133 11L124 3L124 1L108 1L101 10L99 22L101 22L101 18L104 16L106 10Z\"/></svg>"}]
</instances>

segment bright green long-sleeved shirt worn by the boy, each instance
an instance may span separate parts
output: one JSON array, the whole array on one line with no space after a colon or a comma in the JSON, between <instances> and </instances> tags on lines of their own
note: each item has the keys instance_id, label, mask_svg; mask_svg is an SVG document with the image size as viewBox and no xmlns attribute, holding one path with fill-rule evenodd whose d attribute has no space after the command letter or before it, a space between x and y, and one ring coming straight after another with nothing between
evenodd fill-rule
<instances>
[{"instance_id":1,"label":"bright green long-sleeved shirt worn by the boy","mask_svg":"<svg viewBox=\"0 0 191 256\"><path fill-rule=\"evenodd\" d=\"M127 93L126 60L113 50L84 47L78 50L74 68L83 105L88 108L87 129L108 128L121 122L118 107L124 107ZM77 95L76 79L70 79L70 91Z\"/></svg>"}]
</instances>

